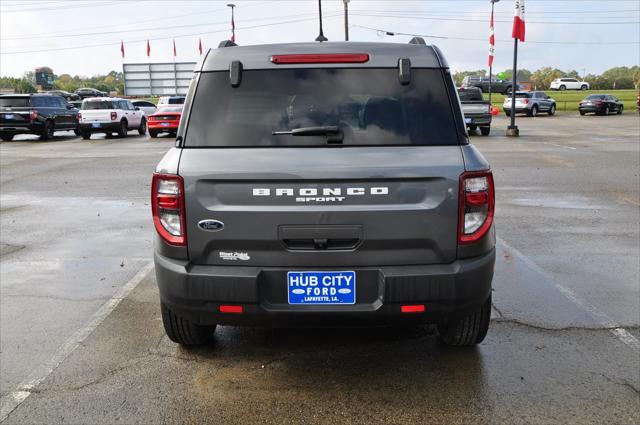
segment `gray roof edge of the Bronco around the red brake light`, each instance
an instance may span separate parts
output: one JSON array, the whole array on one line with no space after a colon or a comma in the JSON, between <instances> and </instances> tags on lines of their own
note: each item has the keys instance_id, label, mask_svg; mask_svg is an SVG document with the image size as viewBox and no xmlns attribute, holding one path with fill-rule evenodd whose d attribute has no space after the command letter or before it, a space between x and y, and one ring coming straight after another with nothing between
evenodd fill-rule
<instances>
[{"instance_id":1,"label":"gray roof edge of the Bronco around the red brake light","mask_svg":"<svg viewBox=\"0 0 640 425\"><path fill-rule=\"evenodd\" d=\"M201 71L228 70L232 61L242 62L243 69L282 69L282 68L344 68L344 63L335 64L274 64L272 55L287 54L330 54L330 53L368 53L365 63L350 63L350 68L390 68L398 66L398 59L408 58L411 66L417 68L448 68L449 65L435 46L424 44L399 43L363 43L363 42L324 42L324 43L286 43L262 44L254 46L233 46L210 49Z\"/></svg>"}]
</instances>

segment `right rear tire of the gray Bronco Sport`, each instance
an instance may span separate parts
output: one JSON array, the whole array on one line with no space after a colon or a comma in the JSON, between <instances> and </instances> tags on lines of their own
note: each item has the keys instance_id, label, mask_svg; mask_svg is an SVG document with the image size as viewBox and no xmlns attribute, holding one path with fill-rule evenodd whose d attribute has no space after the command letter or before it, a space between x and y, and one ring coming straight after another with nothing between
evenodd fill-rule
<instances>
[{"instance_id":1,"label":"right rear tire of the gray Bronco Sport","mask_svg":"<svg viewBox=\"0 0 640 425\"><path fill-rule=\"evenodd\" d=\"M447 345L464 347L480 344L491 321L491 296L473 313L438 325L440 339Z\"/></svg>"}]
</instances>

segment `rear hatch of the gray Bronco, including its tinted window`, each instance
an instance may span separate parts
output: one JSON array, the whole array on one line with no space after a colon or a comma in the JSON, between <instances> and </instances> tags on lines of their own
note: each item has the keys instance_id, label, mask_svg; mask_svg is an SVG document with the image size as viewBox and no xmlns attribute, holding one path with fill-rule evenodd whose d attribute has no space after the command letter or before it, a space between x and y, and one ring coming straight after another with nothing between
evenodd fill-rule
<instances>
[{"instance_id":1,"label":"rear hatch of the gray Bronco, including its tinted window","mask_svg":"<svg viewBox=\"0 0 640 425\"><path fill-rule=\"evenodd\" d=\"M454 261L460 112L442 70L413 69L411 78L401 85L397 69L262 70L245 71L234 88L228 71L203 73L179 165L191 262Z\"/></svg>"}]
</instances>

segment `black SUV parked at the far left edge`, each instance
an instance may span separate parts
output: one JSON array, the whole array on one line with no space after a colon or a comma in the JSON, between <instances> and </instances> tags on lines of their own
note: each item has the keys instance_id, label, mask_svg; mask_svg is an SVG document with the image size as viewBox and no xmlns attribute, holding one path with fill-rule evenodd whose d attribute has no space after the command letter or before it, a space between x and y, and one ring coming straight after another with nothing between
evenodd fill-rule
<instances>
[{"instance_id":1,"label":"black SUV parked at the far left edge","mask_svg":"<svg viewBox=\"0 0 640 425\"><path fill-rule=\"evenodd\" d=\"M40 140L49 140L58 130L76 130L77 112L61 96L0 95L0 138L8 141L16 134L37 134Z\"/></svg>"}]
</instances>

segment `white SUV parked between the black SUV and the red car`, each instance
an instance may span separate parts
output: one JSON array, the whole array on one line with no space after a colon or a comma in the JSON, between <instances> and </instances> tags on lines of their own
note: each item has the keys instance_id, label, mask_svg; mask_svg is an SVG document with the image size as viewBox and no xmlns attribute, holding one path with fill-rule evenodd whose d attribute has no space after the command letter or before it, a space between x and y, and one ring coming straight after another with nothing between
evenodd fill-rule
<instances>
[{"instance_id":1,"label":"white SUV parked between the black SUV and the red car","mask_svg":"<svg viewBox=\"0 0 640 425\"><path fill-rule=\"evenodd\" d=\"M147 118L131 101L112 97L90 97L84 99L78 113L80 135L89 139L93 133L104 133L110 137L116 133L126 137L129 130L147 133Z\"/></svg>"}]
</instances>

